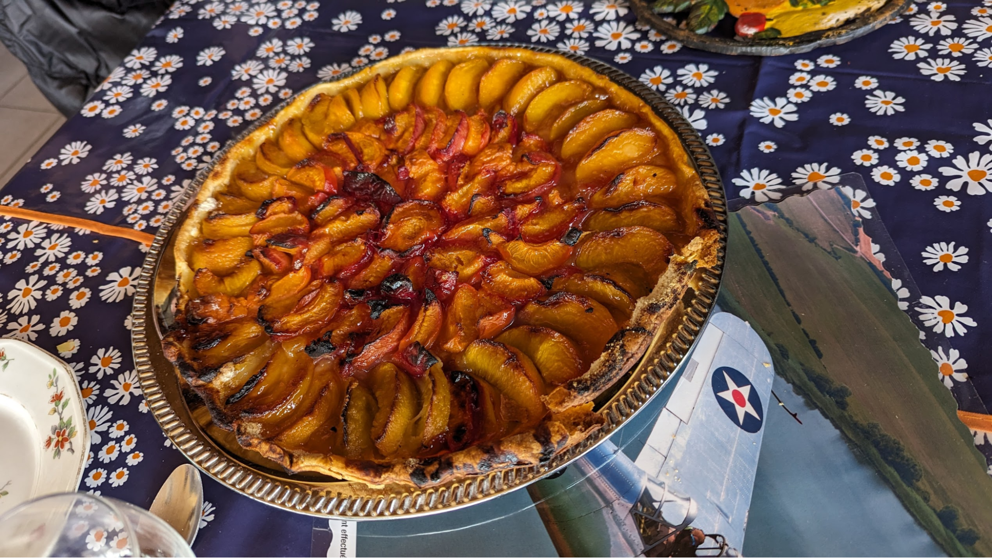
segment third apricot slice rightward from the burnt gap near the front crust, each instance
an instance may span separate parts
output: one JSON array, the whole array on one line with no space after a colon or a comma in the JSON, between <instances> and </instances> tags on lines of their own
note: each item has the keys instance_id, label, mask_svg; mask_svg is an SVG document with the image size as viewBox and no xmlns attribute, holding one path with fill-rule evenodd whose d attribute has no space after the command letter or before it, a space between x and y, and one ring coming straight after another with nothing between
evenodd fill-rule
<instances>
[{"instance_id":1,"label":"third apricot slice rightward from the burnt gap near the front crust","mask_svg":"<svg viewBox=\"0 0 992 558\"><path fill-rule=\"evenodd\" d=\"M586 363L599 357L617 331L616 321L602 304L571 292L528 302L517 312L517 323L548 327L564 334L578 345Z\"/></svg>"}]
</instances>

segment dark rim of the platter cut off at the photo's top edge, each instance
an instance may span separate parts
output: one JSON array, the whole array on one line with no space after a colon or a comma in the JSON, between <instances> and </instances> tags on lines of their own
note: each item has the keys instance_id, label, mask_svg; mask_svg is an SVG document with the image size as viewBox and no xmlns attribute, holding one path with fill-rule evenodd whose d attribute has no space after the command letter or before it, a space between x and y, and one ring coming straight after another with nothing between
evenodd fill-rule
<instances>
[{"instance_id":1,"label":"dark rim of the platter cut off at the photo's top edge","mask_svg":"<svg viewBox=\"0 0 992 558\"><path fill-rule=\"evenodd\" d=\"M649 25L670 39L682 43L686 47L719 53L721 55L754 55L782 56L808 53L820 47L842 45L858 37L868 35L886 25L905 12L914 0L889 0L879 9L862 14L851 21L820 31L810 31L796 37L779 37L775 39L743 39L739 37L719 37L716 35L698 35L687 29L666 21L666 14L661 16L651 10L651 0L631 0L631 7L640 22Z\"/></svg>"}]
</instances>

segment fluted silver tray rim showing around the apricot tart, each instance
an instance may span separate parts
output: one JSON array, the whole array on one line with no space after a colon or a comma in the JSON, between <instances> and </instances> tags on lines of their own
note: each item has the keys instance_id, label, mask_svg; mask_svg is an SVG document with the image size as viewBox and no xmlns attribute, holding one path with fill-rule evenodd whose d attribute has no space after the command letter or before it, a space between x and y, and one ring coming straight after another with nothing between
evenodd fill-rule
<instances>
[{"instance_id":1,"label":"fluted silver tray rim showing around the apricot tart","mask_svg":"<svg viewBox=\"0 0 992 558\"><path fill-rule=\"evenodd\" d=\"M719 264L712 270L704 271L699 288L690 290L683 297L682 322L672 328L669 335L657 335L629 376L604 394L596 408L606 417L606 424L582 443L543 465L495 471L431 489L400 485L373 489L363 483L340 481L314 473L289 474L277 464L241 448L230 432L213 425L203 404L194 395L184 392L179 375L162 352L162 330L171 320L176 285L173 233L186 215L186 205L195 198L199 186L210 172L211 168L207 167L197 174L178 200L176 209L159 229L142 268L132 314L135 363L148 407L166 435L204 473L259 502L311 515L371 519L443 511L519 489L571 463L606 440L610 433L633 416L682 362L716 300L726 250L726 203L716 166L705 145L682 114L661 95L612 66L552 49L529 45L499 46L558 54L606 75L640 96L679 135L682 148L709 194L721 236ZM274 108L269 116L292 100ZM230 146L267 121L268 118L259 119L254 126L229 142L214 160L221 160Z\"/></svg>"}]
</instances>

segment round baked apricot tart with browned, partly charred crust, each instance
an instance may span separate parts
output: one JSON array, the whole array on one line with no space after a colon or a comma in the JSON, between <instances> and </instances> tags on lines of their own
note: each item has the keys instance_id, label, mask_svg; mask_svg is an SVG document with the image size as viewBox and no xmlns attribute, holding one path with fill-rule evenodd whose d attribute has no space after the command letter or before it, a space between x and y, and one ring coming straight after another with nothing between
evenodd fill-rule
<instances>
[{"instance_id":1,"label":"round baked apricot tart with browned, partly charred crust","mask_svg":"<svg viewBox=\"0 0 992 558\"><path fill-rule=\"evenodd\" d=\"M395 56L218 159L178 232L165 352L290 472L426 487L540 464L681 317L715 222L678 136L584 65Z\"/></svg>"}]
</instances>

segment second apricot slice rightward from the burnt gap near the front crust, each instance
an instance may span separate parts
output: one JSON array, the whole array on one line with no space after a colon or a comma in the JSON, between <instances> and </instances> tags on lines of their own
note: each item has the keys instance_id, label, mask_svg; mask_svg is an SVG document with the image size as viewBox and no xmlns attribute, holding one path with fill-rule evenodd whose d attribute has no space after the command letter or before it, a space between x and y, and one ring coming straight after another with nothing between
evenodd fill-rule
<instances>
[{"instance_id":1,"label":"second apricot slice rightward from the burnt gap near the front crust","mask_svg":"<svg viewBox=\"0 0 992 558\"><path fill-rule=\"evenodd\" d=\"M514 327L501 333L496 341L527 355L552 386L578 378L585 370L574 343L547 327Z\"/></svg>"}]
</instances>

